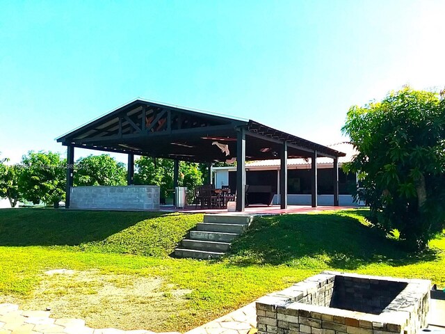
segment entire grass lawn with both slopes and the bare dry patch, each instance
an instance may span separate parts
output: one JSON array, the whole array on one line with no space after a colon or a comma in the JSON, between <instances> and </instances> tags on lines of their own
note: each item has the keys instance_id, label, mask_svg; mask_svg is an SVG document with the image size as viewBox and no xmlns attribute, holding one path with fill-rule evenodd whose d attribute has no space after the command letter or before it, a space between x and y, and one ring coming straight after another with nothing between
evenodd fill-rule
<instances>
[{"instance_id":1,"label":"entire grass lawn with both slopes and the bare dry patch","mask_svg":"<svg viewBox=\"0 0 445 334\"><path fill-rule=\"evenodd\" d=\"M445 286L445 237L410 256L364 214L257 218L229 255L197 261L168 255L199 214L1 209L0 303L96 328L186 331L324 269Z\"/></svg>"}]
</instances>

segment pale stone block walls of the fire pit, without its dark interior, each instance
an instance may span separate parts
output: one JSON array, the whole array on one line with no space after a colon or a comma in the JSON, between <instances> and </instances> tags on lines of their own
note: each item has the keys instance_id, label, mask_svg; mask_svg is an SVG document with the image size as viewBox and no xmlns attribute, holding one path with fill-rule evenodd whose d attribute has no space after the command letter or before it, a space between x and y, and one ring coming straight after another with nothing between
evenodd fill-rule
<instances>
[{"instance_id":1,"label":"pale stone block walls of the fire pit, without its dark interior","mask_svg":"<svg viewBox=\"0 0 445 334\"><path fill-rule=\"evenodd\" d=\"M382 280L404 283L405 289L379 315L332 308L329 305L335 294L337 276L354 278L355 282L363 279L364 282ZM362 285L359 287L363 288ZM426 326L429 291L429 280L401 280L325 271L281 292L258 299L257 328L259 334L415 334Z\"/></svg>"}]
</instances>

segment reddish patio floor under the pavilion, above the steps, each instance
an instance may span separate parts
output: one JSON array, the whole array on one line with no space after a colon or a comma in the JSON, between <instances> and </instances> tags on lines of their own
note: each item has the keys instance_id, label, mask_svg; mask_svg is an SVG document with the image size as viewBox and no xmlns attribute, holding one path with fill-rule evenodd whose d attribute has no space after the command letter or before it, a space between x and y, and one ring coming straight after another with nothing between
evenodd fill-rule
<instances>
[{"instance_id":1,"label":"reddish patio floor under the pavilion, above the steps","mask_svg":"<svg viewBox=\"0 0 445 334\"><path fill-rule=\"evenodd\" d=\"M326 210L343 210L354 209L357 207L334 207L334 206L318 206L311 207L310 205L288 205L287 209L280 209L280 205L249 205L244 212L228 212L227 209L201 209L198 205L188 205L184 209L177 209L172 205L161 205L162 212L184 212L189 214L303 214L307 212L320 212Z\"/></svg>"}]
</instances>

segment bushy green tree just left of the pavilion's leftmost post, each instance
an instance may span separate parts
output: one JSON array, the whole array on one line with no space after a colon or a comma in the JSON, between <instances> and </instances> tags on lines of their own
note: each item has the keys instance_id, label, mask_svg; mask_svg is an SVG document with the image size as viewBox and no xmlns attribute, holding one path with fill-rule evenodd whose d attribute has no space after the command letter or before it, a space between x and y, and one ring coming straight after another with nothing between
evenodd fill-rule
<instances>
[{"instance_id":1,"label":"bushy green tree just left of the pavilion's leftmost post","mask_svg":"<svg viewBox=\"0 0 445 334\"><path fill-rule=\"evenodd\" d=\"M22 157L19 192L25 200L52 205L65 198L66 161L54 152L29 152Z\"/></svg>"}]
</instances>

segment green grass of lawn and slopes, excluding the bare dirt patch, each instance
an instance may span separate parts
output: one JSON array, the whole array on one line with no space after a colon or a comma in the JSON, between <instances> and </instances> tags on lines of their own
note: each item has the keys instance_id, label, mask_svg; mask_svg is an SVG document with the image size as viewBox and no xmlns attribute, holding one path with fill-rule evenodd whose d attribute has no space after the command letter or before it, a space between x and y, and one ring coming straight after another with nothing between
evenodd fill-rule
<instances>
[{"instance_id":1,"label":"green grass of lawn and slopes, excluding the bare dirt patch","mask_svg":"<svg viewBox=\"0 0 445 334\"><path fill-rule=\"evenodd\" d=\"M429 278L445 285L444 238L432 241L429 253L412 257L396 241L375 234L362 214L364 210L260 218L229 256L208 262L167 256L200 221L198 215L0 210L0 294L28 302L45 269L159 277L165 281L166 299L172 298L168 289L192 290L186 305L157 323L146 323L141 315L139 323L116 319L114 324L184 331L323 269ZM131 301L129 306L138 308Z\"/></svg>"}]
</instances>

